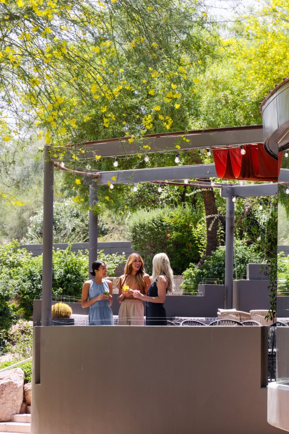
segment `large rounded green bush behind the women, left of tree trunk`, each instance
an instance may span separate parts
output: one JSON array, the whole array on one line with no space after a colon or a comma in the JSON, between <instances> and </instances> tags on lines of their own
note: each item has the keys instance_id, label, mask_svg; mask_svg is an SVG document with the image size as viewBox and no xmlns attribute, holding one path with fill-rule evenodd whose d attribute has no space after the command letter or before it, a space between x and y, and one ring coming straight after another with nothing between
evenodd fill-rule
<instances>
[{"instance_id":1,"label":"large rounded green bush behind the women, left of tree trunk","mask_svg":"<svg viewBox=\"0 0 289 434\"><path fill-rule=\"evenodd\" d=\"M181 274L190 262L200 259L204 249L206 227L200 210L185 207L140 210L129 220L132 248L152 270L156 253L165 252L175 274Z\"/></svg>"}]
</instances>

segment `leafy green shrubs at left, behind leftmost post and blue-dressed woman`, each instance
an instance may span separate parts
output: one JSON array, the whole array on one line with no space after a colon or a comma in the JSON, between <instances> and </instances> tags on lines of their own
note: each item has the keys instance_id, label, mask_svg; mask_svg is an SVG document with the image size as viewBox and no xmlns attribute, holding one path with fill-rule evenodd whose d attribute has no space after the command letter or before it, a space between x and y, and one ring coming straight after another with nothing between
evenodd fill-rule
<instances>
[{"instance_id":1,"label":"leafy green shrubs at left, behind leftmost post and blue-dressed woman","mask_svg":"<svg viewBox=\"0 0 289 434\"><path fill-rule=\"evenodd\" d=\"M9 255L11 258L9 259ZM125 262L124 255L105 255L99 252L99 259L105 261L108 275ZM29 320L33 313L33 300L41 297L42 256L32 257L26 249L20 249L17 242L2 245L0 248L0 288L7 290L7 298L16 299L18 314ZM53 251L52 295L65 295L79 298L83 282L88 275L88 255L65 250Z\"/></svg>"}]
</instances>

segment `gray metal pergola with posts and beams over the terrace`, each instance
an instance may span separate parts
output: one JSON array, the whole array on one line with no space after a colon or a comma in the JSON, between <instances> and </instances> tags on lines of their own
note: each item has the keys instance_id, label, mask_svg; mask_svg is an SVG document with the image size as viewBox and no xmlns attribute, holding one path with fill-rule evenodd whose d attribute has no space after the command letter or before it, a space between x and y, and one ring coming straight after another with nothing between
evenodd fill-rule
<instances>
[{"instance_id":1,"label":"gray metal pergola with posts and beams over the terrace","mask_svg":"<svg viewBox=\"0 0 289 434\"><path fill-rule=\"evenodd\" d=\"M234 127L211 130L196 130L189 132L173 132L145 136L142 146L145 153L176 151L176 139L184 137L179 143L179 151L198 148L241 146L250 143L263 142L262 126ZM43 189L43 277L41 325L51 325L52 304L52 251L53 251L53 178L54 167L84 176L84 182L89 184L89 203L93 206L98 200L98 187L111 184L157 182L193 178L200 180L198 185L212 188L209 183L202 182L202 178L216 177L214 164L190 165L147 168L125 171L100 172L76 169L69 163L69 151L81 150L84 158L94 158L96 154L102 157L118 157L132 155L139 152L137 142L130 143L129 136L121 139L109 139L68 145L59 148L53 154L49 145L44 145L44 189ZM66 153L63 154L63 151ZM60 155L62 155L60 162ZM67 162L68 160L68 162ZM113 178L113 179L112 179ZM179 181L180 182L180 181ZM181 181L183 182L183 181ZM186 184L195 186L196 184ZM222 184L221 195L226 197L226 268L225 268L225 307L232 307L233 293L233 246L234 246L234 202L233 197L246 198L249 196L277 195L277 183L268 184ZM89 212L89 263L97 257L98 222L92 211Z\"/></svg>"}]
</instances>

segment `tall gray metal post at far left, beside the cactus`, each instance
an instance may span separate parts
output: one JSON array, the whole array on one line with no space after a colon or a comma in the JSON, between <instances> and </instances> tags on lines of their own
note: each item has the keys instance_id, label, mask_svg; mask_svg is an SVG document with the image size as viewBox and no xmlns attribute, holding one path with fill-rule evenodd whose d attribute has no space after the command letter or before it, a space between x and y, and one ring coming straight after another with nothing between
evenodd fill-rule
<instances>
[{"instance_id":1,"label":"tall gray metal post at far left, beside the cactus","mask_svg":"<svg viewBox=\"0 0 289 434\"><path fill-rule=\"evenodd\" d=\"M51 325L54 167L50 149L49 145L44 145L41 325Z\"/></svg>"}]
</instances>

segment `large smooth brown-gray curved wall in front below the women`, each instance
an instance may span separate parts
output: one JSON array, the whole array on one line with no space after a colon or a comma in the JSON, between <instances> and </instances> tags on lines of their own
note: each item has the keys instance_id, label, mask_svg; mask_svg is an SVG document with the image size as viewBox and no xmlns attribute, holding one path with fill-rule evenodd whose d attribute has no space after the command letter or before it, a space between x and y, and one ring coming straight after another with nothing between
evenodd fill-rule
<instances>
[{"instance_id":1,"label":"large smooth brown-gray curved wall in front below the women","mask_svg":"<svg viewBox=\"0 0 289 434\"><path fill-rule=\"evenodd\" d=\"M31 433L278 434L264 329L34 327Z\"/></svg>"}]
</instances>

